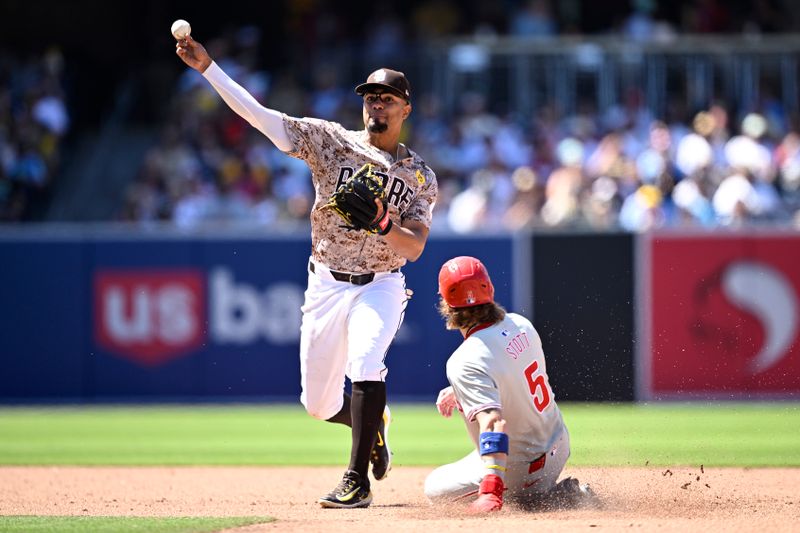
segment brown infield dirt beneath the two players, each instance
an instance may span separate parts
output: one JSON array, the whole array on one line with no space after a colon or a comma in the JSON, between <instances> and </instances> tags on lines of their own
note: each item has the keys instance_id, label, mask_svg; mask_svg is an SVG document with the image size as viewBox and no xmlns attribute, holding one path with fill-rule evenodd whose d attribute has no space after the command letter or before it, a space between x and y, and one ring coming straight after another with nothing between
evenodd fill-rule
<instances>
[{"instance_id":1,"label":"brown infield dirt beneath the two players","mask_svg":"<svg viewBox=\"0 0 800 533\"><path fill-rule=\"evenodd\" d=\"M432 507L422 493L430 467L395 466L373 483L368 509L321 509L339 481L333 467L3 467L0 514L80 516L273 516L257 531L800 531L800 469L567 468L588 482L599 507L490 517Z\"/></svg>"}]
</instances>

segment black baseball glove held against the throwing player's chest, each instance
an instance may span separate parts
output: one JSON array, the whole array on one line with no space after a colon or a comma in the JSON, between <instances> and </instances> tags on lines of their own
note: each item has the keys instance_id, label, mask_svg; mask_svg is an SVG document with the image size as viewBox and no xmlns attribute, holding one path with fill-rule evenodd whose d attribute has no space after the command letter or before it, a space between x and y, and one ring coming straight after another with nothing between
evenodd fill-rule
<instances>
[{"instance_id":1,"label":"black baseball glove held against the throwing player's chest","mask_svg":"<svg viewBox=\"0 0 800 533\"><path fill-rule=\"evenodd\" d=\"M381 211L378 203L383 207ZM347 229L364 230L379 235L386 235L392 229L386 191L380 177L373 172L371 163L361 167L342 183L325 207L330 207L342 217Z\"/></svg>"}]
</instances>

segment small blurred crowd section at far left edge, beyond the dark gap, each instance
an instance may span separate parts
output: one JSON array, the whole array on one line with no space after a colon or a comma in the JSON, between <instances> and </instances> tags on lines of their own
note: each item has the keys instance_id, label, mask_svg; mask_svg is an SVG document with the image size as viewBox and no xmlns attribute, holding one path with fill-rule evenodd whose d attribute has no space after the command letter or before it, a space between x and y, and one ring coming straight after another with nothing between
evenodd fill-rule
<instances>
[{"instance_id":1,"label":"small blurred crowd section at far left edge, beyond the dark gap","mask_svg":"<svg viewBox=\"0 0 800 533\"><path fill-rule=\"evenodd\" d=\"M0 221L31 218L51 192L69 129L58 49L22 59L0 49Z\"/></svg>"}]
</instances>

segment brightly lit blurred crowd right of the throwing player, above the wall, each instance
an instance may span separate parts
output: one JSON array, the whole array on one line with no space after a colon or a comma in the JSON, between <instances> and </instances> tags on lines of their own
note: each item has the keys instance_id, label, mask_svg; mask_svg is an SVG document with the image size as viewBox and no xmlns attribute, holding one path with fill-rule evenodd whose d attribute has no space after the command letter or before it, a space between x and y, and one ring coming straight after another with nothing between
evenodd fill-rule
<instances>
[{"instance_id":1,"label":"brightly lit blurred crowd right of the throwing player, above the wall","mask_svg":"<svg viewBox=\"0 0 800 533\"><path fill-rule=\"evenodd\" d=\"M714 104L687 123L639 101L568 117L544 108L527 128L476 102L438 139L423 124L442 218L458 232L800 222L800 137L780 106L739 124Z\"/></svg>"}]
</instances>

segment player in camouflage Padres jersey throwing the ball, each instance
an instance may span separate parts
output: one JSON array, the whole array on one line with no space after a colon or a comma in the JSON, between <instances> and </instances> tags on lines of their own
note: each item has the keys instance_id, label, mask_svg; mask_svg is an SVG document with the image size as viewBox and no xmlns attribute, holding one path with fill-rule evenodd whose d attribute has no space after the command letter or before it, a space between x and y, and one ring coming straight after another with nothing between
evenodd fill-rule
<instances>
[{"instance_id":1,"label":"player in camouflage Padres jersey throwing the ball","mask_svg":"<svg viewBox=\"0 0 800 533\"><path fill-rule=\"evenodd\" d=\"M259 104L191 36L176 53L280 150L311 168L311 257L300 332L301 402L321 420L352 428L350 463L323 507L367 507L368 476L391 468L385 357L408 296L400 272L422 253L436 201L436 176L399 142L411 113L402 72L382 68L355 88L365 128L349 131ZM344 391L345 376L352 397Z\"/></svg>"}]
</instances>

